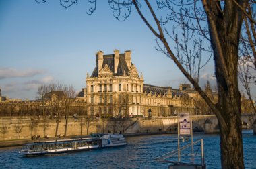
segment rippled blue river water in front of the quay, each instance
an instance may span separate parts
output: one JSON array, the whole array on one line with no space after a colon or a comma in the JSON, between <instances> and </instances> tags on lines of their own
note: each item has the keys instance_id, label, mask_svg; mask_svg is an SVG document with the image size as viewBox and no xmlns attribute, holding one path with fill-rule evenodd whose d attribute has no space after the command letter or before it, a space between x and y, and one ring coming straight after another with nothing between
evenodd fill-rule
<instances>
[{"instance_id":1,"label":"rippled blue river water in front of the quay","mask_svg":"<svg viewBox=\"0 0 256 169\"><path fill-rule=\"evenodd\" d=\"M154 158L177 149L176 138L177 135L127 137L127 146L35 157L21 156L20 147L1 148L0 168L168 168L170 164ZM200 133L193 138L203 139L207 168L220 168L219 135ZM181 142L181 146L188 143ZM243 149L245 168L256 168L256 135L252 131L243 131ZM197 150L194 146L194 153ZM189 152L191 148L181 152L182 161L200 159L191 158ZM177 156L168 160L177 160Z\"/></svg>"}]
</instances>

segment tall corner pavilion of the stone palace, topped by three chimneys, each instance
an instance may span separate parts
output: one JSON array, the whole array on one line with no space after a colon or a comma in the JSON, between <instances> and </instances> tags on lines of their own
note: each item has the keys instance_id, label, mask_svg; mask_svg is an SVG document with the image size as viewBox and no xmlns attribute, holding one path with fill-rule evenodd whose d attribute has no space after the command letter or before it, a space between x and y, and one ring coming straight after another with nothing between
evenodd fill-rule
<instances>
[{"instance_id":1,"label":"tall corner pavilion of the stone palace, topped by three chimneys","mask_svg":"<svg viewBox=\"0 0 256 169\"><path fill-rule=\"evenodd\" d=\"M139 115L143 76L131 62L131 51L96 53L96 66L86 78L86 101L90 115L110 117ZM133 105L133 106L131 106Z\"/></svg>"}]
</instances>

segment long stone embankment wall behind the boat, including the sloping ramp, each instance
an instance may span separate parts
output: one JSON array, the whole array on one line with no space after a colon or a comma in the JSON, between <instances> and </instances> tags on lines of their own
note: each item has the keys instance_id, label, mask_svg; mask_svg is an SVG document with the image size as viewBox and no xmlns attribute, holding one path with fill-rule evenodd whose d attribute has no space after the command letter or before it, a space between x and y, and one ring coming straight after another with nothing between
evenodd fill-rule
<instances>
[{"instance_id":1,"label":"long stone embankment wall behind the boat, including the sloping ramp","mask_svg":"<svg viewBox=\"0 0 256 169\"><path fill-rule=\"evenodd\" d=\"M103 127L104 126L104 127ZM56 119L42 117L0 117L0 141L29 140L33 136L40 139L55 137ZM104 128L104 131L103 131ZM109 118L76 119L69 117L66 137L84 136L90 133L164 133L166 126L162 119ZM65 118L59 119L57 135L65 133Z\"/></svg>"}]
</instances>

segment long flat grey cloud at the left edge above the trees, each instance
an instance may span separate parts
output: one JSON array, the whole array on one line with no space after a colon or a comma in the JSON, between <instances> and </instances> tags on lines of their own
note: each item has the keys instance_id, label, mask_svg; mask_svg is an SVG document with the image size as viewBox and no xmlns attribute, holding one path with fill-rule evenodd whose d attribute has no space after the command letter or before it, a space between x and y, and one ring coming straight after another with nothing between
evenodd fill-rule
<instances>
[{"instance_id":1,"label":"long flat grey cloud at the left edge above the trees","mask_svg":"<svg viewBox=\"0 0 256 169\"><path fill-rule=\"evenodd\" d=\"M15 68L0 68L0 80L4 78L32 77L44 73L44 70L34 68L26 70L17 70Z\"/></svg>"}]
</instances>

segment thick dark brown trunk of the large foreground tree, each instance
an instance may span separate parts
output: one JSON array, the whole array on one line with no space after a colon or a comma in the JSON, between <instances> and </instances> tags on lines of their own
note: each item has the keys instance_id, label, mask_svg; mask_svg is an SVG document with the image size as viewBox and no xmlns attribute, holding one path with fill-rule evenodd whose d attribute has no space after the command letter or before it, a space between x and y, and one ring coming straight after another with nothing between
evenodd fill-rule
<instances>
[{"instance_id":1,"label":"thick dark brown trunk of the large foreground tree","mask_svg":"<svg viewBox=\"0 0 256 169\"><path fill-rule=\"evenodd\" d=\"M246 1L238 3L246 7ZM218 103L214 113L220 125L222 168L244 168L241 95L238 89L238 46L243 12L232 1L203 1L214 51Z\"/></svg>"}]
</instances>

